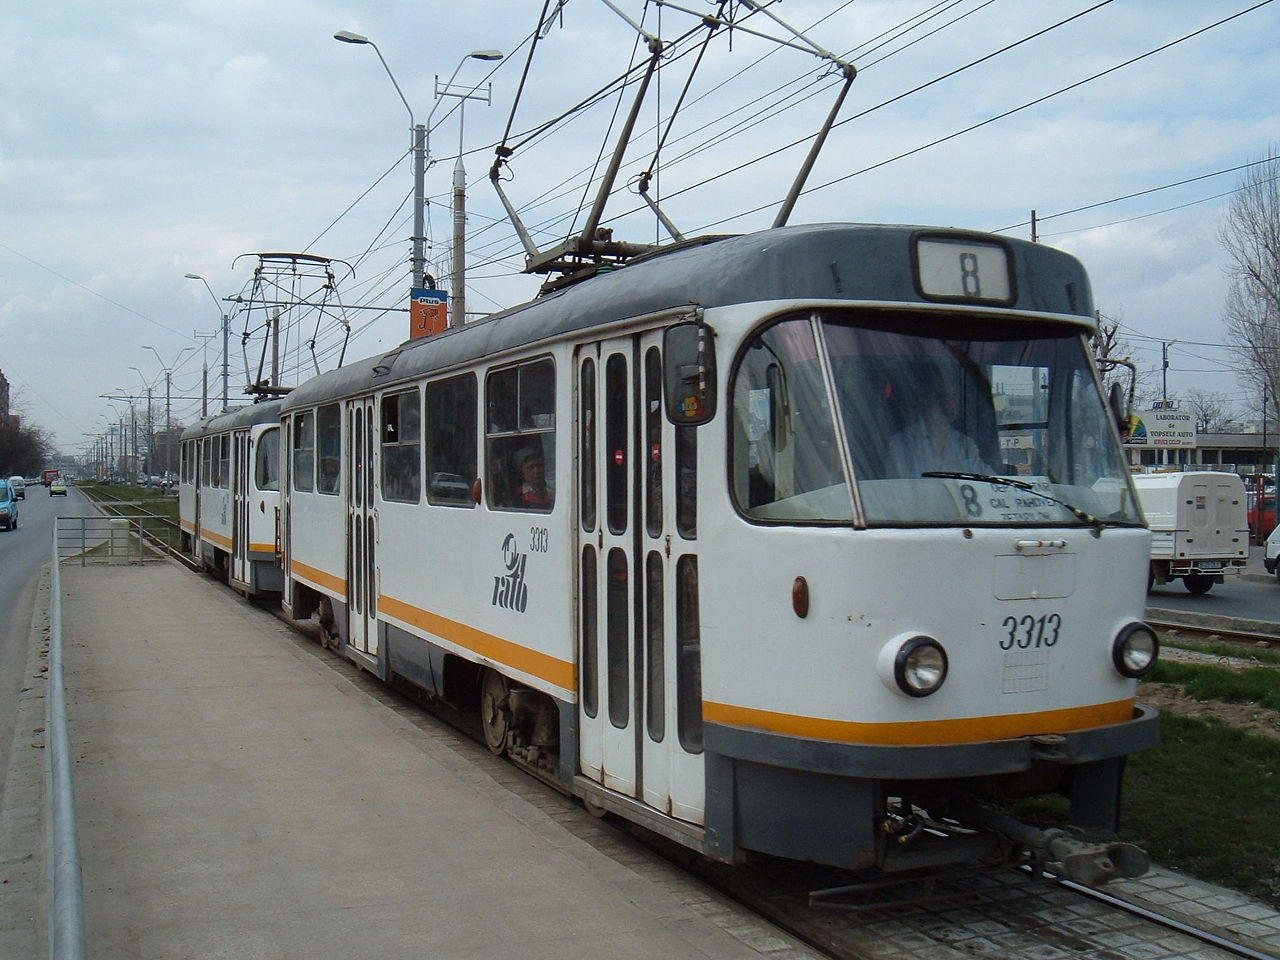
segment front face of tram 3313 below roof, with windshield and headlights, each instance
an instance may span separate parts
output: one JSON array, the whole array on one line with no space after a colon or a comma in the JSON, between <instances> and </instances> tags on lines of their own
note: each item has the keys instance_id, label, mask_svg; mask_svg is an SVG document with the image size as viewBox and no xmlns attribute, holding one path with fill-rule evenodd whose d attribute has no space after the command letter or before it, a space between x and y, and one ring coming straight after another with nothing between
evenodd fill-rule
<instances>
[{"instance_id":1,"label":"front face of tram 3313 below roof, with windshield and headlights","mask_svg":"<svg viewBox=\"0 0 1280 960\"><path fill-rule=\"evenodd\" d=\"M1051 792L1115 831L1124 758L1156 742L1135 689L1157 643L1089 333L922 298L797 308L736 351L703 685L708 769L736 797L708 823L732 815L737 846L883 868L1007 854L974 828Z\"/></svg>"}]
</instances>

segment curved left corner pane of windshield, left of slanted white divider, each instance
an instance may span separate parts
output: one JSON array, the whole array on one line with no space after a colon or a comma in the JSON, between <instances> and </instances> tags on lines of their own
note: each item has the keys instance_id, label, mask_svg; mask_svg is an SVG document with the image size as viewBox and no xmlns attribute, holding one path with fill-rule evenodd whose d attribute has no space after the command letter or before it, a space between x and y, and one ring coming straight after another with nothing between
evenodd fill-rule
<instances>
[{"instance_id":1,"label":"curved left corner pane of windshield, left of slanted white divider","mask_svg":"<svg viewBox=\"0 0 1280 960\"><path fill-rule=\"evenodd\" d=\"M762 520L852 520L836 424L808 317L774 324L733 371L733 497Z\"/></svg>"}]
</instances>

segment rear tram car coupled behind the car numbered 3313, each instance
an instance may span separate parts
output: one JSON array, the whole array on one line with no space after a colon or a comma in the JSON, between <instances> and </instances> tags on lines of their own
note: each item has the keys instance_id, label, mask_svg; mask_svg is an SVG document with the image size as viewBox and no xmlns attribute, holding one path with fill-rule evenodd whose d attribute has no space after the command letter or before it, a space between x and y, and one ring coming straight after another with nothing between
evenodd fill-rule
<instances>
[{"instance_id":1,"label":"rear tram car coupled behind the car numbered 3313","mask_svg":"<svg viewBox=\"0 0 1280 960\"><path fill-rule=\"evenodd\" d=\"M183 548L247 596L280 593L280 401L236 407L182 434Z\"/></svg>"}]
</instances>

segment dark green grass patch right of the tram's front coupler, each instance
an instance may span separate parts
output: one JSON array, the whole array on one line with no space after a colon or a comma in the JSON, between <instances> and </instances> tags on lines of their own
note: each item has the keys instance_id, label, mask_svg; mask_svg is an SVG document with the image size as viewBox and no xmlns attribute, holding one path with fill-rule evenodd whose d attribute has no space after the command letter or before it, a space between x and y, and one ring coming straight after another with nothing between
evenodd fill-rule
<instances>
[{"instance_id":1,"label":"dark green grass patch right of the tram's front coupler","mask_svg":"<svg viewBox=\"0 0 1280 960\"><path fill-rule=\"evenodd\" d=\"M1170 869L1280 906L1280 741L1217 719L1160 718L1129 758L1121 837Z\"/></svg>"}]
</instances>

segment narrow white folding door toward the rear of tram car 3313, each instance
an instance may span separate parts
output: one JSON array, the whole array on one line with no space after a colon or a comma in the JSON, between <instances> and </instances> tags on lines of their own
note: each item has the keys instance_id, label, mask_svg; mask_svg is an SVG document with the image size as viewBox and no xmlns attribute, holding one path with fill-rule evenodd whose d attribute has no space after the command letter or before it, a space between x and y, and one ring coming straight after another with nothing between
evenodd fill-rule
<instances>
[{"instance_id":1,"label":"narrow white folding door toward the rear of tram car 3313","mask_svg":"<svg viewBox=\"0 0 1280 960\"><path fill-rule=\"evenodd\" d=\"M375 406L371 397L347 403L347 644L369 657L378 655Z\"/></svg>"}]
</instances>

